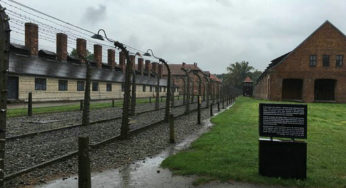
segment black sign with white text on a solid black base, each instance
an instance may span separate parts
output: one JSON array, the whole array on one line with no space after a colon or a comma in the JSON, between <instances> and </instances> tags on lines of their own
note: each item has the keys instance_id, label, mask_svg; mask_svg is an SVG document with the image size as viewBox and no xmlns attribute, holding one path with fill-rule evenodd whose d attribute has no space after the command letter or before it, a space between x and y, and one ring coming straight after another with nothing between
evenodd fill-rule
<instances>
[{"instance_id":1,"label":"black sign with white text on a solid black base","mask_svg":"<svg viewBox=\"0 0 346 188\"><path fill-rule=\"evenodd\" d=\"M259 173L282 178L306 178L307 105L259 105ZM291 138L278 140L273 137Z\"/></svg>"}]
</instances>

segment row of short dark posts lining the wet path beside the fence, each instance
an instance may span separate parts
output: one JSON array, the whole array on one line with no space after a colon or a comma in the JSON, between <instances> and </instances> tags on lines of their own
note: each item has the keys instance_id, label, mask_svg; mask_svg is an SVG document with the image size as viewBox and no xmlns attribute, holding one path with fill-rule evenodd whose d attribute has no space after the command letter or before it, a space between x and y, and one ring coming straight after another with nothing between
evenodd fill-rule
<instances>
[{"instance_id":1,"label":"row of short dark posts lining the wet path beside the fence","mask_svg":"<svg viewBox=\"0 0 346 188\"><path fill-rule=\"evenodd\" d=\"M178 96L179 100L179 96ZM151 97L149 97L151 101ZM224 109L225 98L222 98L222 108ZM226 97L226 103L232 104L234 99L232 97ZM201 104L200 96L197 96L198 116L197 123L201 124ZM220 111L220 100L217 102L218 111ZM213 116L213 103L210 104L210 116ZM174 116L169 115L169 142L175 143L174 133ZM91 170L90 170L90 157L89 157L89 137L78 137L78 187L79 188L91 188Z\"/></svg>"}]
</instances>

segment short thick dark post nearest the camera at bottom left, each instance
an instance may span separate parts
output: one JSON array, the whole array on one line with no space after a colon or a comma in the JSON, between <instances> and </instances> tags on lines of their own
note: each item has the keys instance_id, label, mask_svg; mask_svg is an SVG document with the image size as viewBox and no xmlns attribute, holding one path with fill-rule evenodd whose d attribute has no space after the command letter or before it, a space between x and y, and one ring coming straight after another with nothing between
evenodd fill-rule
<instances>
[{"instance_id":1,"label":"short thick dark post nearest the camera at bottom left","mask_svg":"<svg viewBox=\"0 0 346 188\"><path fill-rule=\"evenodd\" d=\"M89 137L78 137L78 188L91 188Z\"/></svg>"}]
</instances>

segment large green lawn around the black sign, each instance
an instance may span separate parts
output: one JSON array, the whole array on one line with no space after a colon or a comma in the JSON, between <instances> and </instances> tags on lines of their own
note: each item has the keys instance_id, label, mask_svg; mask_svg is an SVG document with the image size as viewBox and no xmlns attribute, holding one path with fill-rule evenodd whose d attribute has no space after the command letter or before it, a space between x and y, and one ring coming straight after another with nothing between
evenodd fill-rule
<instances>
[{"instance_id":1,"label":"large green lawn around the black sign","mask_svg":"<svg viewBox=\"0 0 346 188\"><path fill-rule=\"evenodd\" d=\"M346 187L346 104L308 104L307 179L281 179L258 174L258 104L239 97L235 105L214 117L215 126L185 151L162 162L181 175L196 174L196 182L236 180L298 187Z\"/></svg>"}]
</instances>

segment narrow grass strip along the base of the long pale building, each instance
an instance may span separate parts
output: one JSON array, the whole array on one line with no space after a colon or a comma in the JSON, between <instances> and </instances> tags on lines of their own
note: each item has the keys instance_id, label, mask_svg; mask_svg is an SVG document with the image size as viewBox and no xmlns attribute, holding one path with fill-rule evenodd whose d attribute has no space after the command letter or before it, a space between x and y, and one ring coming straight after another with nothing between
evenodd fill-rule
<instances>
[{"instance_id":1,"label":"narrow grass strip along the base of the long pale building","mask_svg":"<svg viewBox=\"0 0 346 188\"><path fill-rule=\"evenodd\" d=\"M161 101L161 99L160 99ZM165 99L162 100L164 102ZM151 99L152 103L155 103L155 98ZM141 98L137 99L137 104L143 104L143 103L149 103L148 98ZM121 107L123 104L123 101L115 101L116 107ZM99 108L110 108L112 107L112 101L109 102L102 102L102 103L96 103L92 102L90 103L90 109L99 109ZM80 109L79 104L70 104L70 105L63 105L63 106L48 106L48 107L33 107L32 113L33 114L42 114L42 113L53 113L53 112L68 112L68 111L78 111ZM7 117L17 117L17 116L26 116L28 113L27 108L16 108L16 109L8 109L7 111Z\"/></svg>"}]
</instances>

